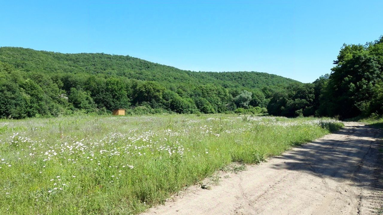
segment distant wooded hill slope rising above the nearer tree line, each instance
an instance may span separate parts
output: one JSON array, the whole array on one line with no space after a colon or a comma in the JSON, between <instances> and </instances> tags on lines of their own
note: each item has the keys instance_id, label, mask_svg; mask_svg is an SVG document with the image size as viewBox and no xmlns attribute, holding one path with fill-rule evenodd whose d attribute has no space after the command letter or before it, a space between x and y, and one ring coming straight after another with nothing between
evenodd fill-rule
<instances>
[{"instance_id":1,"label":"distant wooded hill slope rising above the nearer tree line","mask_svg":"<svg viewBox=\"0 0 383 215\"><path fill-rule=\"evenodd\" d=\"M215 84L225 88L287 86L298 81L260 72L192 72L136 57L103 53L62 54L20 47L0 47L0 61L24 71L87 73L158 81L165 86Z\"/></svg>"}]
</instances>

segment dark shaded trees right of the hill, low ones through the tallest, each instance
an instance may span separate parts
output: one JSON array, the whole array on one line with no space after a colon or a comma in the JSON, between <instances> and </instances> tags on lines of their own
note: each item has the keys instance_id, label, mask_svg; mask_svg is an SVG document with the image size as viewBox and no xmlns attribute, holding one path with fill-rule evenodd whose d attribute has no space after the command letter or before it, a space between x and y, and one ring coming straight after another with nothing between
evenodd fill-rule
<instances>
[{"instance_id":1,"label":"dark shaded trees right of the hill, low ones through the tallest","mask_svg":"<svg viewBox=\"0 0 383 215\"><path fill-rule=\"evenodd\" d=\"M381 116L383 114L383 36L374 42L344 44L331 74L313 83L293 83L274 93L269 114L280 116Z\"/></svg>"}]
</instances>

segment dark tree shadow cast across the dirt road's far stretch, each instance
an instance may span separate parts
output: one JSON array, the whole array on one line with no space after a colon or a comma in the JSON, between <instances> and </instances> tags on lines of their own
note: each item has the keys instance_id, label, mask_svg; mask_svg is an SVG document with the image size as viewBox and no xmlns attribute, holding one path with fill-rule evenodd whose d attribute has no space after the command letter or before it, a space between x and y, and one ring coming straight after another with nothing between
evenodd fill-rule
<instances>
[{"instance_id":1,"label":"dark tree shadow cast across the dirt road's far stretch","mask_svg":"<svg viewBox=\"0 0 383 215\"><path fill-rule=\"evenodd\" d=\"M346 126L333 134L336 135L325 136L276 157L284 162L278 162L272 168L304 171L337 181L348 180L355 186L366 186L374 180L376 171L381 171L377 167L382 157L379 152L381 142L374 141L380 137L380 130L368 125Z\"/></svg>"}]
</instances>

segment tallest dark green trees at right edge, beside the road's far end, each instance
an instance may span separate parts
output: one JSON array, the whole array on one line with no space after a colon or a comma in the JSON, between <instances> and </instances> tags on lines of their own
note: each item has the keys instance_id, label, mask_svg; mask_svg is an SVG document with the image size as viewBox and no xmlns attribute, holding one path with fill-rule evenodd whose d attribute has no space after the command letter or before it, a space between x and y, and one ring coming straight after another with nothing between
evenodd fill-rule
<instances>
[{"instance_id":1,"label":"tallest dark green trees at right edge, beside the road's far end","mask_svg":"<svg viewBox=\"0 0 383 215\"><path fill-rule=\"evenodd\" d=\"M368 116L373 111L382 114L377 108L383 78L382 59L381 39L364 46L344 44L323 90L322 114L342 118Z\"/></svg>"}]
</instances>

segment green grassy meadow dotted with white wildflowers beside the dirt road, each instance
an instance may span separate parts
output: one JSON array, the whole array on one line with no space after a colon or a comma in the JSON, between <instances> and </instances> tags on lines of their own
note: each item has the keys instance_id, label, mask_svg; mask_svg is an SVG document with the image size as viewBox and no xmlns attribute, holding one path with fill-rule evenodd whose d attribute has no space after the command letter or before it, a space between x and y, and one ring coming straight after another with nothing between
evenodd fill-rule
<instances>
[{"instance_id":1,"label":"green grassy meadow dotted with white wildflowers beside the dirt road","mask_svg":"<svg viewBox=\"0 0 383 215\"><path fill-rule=\"evenodd\" d=\"M0 214L136 214L231 162L259 163L342 124L236 115L0 121Z\"/></svg>"}]
</instances>

